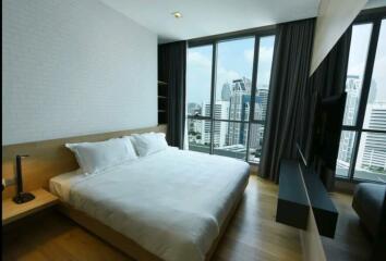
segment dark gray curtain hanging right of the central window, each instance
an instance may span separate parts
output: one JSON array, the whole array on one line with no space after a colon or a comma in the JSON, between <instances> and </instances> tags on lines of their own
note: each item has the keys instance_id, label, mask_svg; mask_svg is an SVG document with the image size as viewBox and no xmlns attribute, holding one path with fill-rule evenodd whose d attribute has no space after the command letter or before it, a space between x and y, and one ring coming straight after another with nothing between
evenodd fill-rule
<instances>
[{"instance_id":1,"label":"dark gray curtain hanging right of the central window","mask_svg":"<svg viewBox=\"0 0 386 261\"><path fill-rule=\"evenodd\" d=\"M278 25L260 175L279 178L280 159L297 158L298 116L309 86L315 20Z\"/></svg>"}]
</instances>

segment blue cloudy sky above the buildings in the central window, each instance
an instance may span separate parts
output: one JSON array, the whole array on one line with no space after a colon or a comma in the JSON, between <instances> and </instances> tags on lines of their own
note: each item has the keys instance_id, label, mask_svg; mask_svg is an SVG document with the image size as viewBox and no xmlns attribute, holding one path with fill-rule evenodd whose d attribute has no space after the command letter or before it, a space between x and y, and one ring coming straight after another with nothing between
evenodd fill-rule
<instances>
[{"instance_id":1,"label":"blue cloudy sky above the buildings in the central window","mask_svg":"<svg viewBox=\"0 0 386 261\"><path fill-rule=\"evenodd\" d=\"M268 85L275 37L262 37L257 85ZM190 48L188 52L186 85L188 103L210 100L212 46ZM216 99L220 99L222 85L233 79L252 79L254 37L218 44Z\"/></svg>"}]
</instances>

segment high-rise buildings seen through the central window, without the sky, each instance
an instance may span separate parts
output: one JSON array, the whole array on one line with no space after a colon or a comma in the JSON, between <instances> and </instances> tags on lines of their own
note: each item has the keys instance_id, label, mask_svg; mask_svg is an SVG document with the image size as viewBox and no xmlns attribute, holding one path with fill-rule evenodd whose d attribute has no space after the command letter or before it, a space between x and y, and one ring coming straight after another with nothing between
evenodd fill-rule
<instances>
[{"instance_id":1,"label":"high-rise buildings seen through the central window, without the sky","mask_svg":"<svg viewBox=\"0 0 386 261\"><path fill-rule=\"evenodd\" d=\"M254 119L264 120L268 103L268 89L256 91ZM215 153L244 159L249 152L250 161L258 162L264 125L248 123L251 110L251 79L244 77L234 79L231 85L224 84L220 94L221 99L216 100L213 107L215 119L239 122L215 121L212 132L210 121L188 119L190 149L208 152L212 138ZM190 102L188 108L190 115L210 116L210 102L202 104ZM249 134L251 135L250 139L248 139ZM246 148L250 148L249 151Z\"/></svg>"}]
</instances>

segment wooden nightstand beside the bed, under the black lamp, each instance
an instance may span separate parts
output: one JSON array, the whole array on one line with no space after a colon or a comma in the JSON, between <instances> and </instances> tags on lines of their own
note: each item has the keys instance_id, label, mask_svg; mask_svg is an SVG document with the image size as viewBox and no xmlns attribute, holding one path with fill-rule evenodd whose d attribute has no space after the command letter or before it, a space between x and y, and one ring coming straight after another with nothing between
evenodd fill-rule
<instances>
[{"instance_id":1,"label":"wooden nightstand beside the bed, under the black lamp","mask_svg":"<svg viewBox=\"0 0 386 261\"><path fill-rule=\"evenodd\" d=\"M59 202L58 197L43 188L36 189L31 192L35 196L35 199L26 203L16 204L15 202L13 202L12 198L8 198L2 201L3 225Z\"/></svg>"}]
</instances>

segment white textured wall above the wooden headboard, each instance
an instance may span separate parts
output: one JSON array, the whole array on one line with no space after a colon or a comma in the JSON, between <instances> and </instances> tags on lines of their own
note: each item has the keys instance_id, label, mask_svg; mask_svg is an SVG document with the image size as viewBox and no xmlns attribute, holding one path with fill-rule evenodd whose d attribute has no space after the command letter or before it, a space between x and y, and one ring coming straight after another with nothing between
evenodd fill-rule
<instances>
[{"instance_id":1,"label":"white textured wall above the wooden headboard","mask_svg":"<svg viewBox=\"0 0 386 261\"><path fill-rule=\"evenodd\" d=\"M157 124L157 36L97 0L5 0L2 142Z\"/></svg>"}]
</instances>

